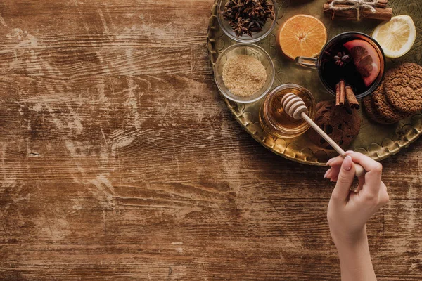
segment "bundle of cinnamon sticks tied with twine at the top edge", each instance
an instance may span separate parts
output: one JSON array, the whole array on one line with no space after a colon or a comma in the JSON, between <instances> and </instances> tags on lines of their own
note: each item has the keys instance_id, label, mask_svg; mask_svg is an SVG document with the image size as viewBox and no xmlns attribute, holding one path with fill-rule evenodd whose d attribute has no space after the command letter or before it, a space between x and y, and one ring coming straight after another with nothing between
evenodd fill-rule
<instances>
[{"instance_id":1,"label":"bundle of cinnamon sticks tied with twine at the top edge","mask_svg":"<svg viewBox=\"0 0 422 281\"><path fill-rule=\"evenodd\" d=\"M387 4L388 0L328 0L323 9L333 20L390 20L392 8Z\"/></svg>"}]
</instances>

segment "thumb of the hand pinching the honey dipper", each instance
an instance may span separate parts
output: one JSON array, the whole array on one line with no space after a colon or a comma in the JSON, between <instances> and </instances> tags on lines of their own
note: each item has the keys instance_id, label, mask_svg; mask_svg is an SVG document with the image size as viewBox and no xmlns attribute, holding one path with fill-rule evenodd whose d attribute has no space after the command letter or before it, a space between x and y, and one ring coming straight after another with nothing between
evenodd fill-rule
<instances>
[{"instance_id":1,"label":"thumb of the hand pinching the honey dipper","mask_svg":"<svg viewBox=\"0 0 422 281\"><path fill-rule=\"evenodd\" d=\"M346 156L341 165L340 174L333 190L333 197L340 201L347 201L350 187L354 180L354 164L352 157Z\"/></svg>"}]
</instances>

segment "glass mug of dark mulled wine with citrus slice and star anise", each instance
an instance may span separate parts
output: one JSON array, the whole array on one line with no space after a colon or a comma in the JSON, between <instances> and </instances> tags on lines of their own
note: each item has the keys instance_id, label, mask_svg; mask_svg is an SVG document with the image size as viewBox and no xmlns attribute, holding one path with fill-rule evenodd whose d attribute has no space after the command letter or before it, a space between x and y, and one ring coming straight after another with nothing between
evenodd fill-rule
<instances>
[{"instance_id":1,"label":"glass mug of dark mulled wine with citrus slice and star anise","mask_svg":"<svg viewBox=\"0 0 422 281\"><path fill-rule=\"evenodd\" d=\"M360 32L345 32L329 41L318 58L296 58L296 63L318 70L319 79L335 96L335 87L344 80L357 98L364 98L381 84L385 55L375 39Z\"/></svg>"}]
</instances>

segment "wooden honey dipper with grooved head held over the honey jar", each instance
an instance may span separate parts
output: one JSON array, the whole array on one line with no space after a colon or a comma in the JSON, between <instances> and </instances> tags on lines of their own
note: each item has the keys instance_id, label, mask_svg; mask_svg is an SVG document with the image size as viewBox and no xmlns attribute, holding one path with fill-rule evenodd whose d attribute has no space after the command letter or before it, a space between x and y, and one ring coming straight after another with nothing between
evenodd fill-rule
<instances>
[{"instance_id":1,"label":"wooden honey dipper with grooved head held over the honey jar","mask_svg":"<svg viewBox=\"0 0 422 281\"><path fill-rule=\"evenodd\" d=\"M315 122L307 116L308 110L305 102L299 96L296 96L294 93L286 93L281 99L281 106L283 110L296 120L305 119L305 121L314 128L314 130L319 133L321 137L326 140L332 148L335 149L342 157L346 157L345 151L340 148L340 146L333 141ZM365 174L364 168L359 164L354 164L354 169L356 171L356 176L362 176Z\"/></svg>"}]
</instances>

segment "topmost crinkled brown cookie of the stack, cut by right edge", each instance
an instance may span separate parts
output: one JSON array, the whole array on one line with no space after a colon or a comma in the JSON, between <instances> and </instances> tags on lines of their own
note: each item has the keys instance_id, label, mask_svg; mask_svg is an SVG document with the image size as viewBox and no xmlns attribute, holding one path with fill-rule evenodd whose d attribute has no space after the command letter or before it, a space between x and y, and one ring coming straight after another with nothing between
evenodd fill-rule
<instances>
[{"instance_id":1,"label":"topmost crinkled brown cookie of the stack, cut by right edge","mask_svg":"<svg viewBox=\"0 0 422 281\"><path fill-rule=\"evenodd\" d=\"M422 67L403 63L385 75L385 96L397 110L414 114L422 110Z\"/></svg>"}]
</instances>

